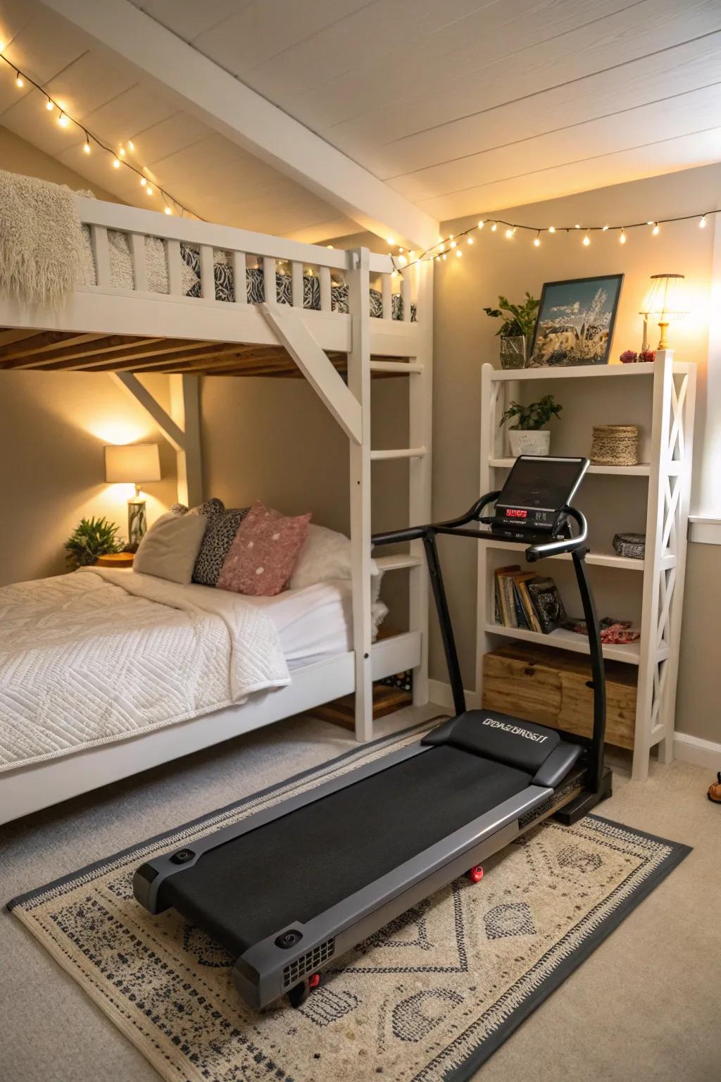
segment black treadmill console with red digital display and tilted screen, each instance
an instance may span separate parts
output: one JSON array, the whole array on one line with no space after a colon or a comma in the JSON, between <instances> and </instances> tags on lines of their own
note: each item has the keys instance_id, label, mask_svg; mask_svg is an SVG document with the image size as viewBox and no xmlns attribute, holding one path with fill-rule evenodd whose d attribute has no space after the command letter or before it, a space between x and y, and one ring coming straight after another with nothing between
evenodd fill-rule
<instances>
[{"instance_id":1,"label":"black treadmill console with red digital display and tilted screen","mask_svg":"<svg viewBox=\"0 0 721 1082\"><path fill-rule=\"evenodd\" d=\"M521 454L496 500L492 532L521 541L531 532L559 533L587 469L588 459Z\"/></svg>"}]
</instances>

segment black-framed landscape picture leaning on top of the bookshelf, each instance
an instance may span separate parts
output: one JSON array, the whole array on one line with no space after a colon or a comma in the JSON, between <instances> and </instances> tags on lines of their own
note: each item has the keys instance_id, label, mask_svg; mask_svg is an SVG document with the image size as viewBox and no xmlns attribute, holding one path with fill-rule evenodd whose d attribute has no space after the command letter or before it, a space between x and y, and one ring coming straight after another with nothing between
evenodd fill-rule
<instances>
[{"instance_id":1,"label":"black-framed landscape picture leaning on top of the bookshelf","mask_svg":"<svg viewBox=\"0 0 721 1082\"><path fill-rule=\"evenodd\" d=\"M547 281L529 368L607 365L623 274Z\"/></svg>"}]
</instances>

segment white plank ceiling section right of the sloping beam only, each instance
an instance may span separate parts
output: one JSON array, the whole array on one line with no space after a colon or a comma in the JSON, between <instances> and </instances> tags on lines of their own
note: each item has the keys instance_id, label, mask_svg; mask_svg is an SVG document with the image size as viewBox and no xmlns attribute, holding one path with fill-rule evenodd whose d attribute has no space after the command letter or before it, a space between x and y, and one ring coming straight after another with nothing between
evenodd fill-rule
<instances>
[{"instance_id":1,"label":"white plank ceiling section right of the sloping beam only","mask_svg":"<svg viewBox=\"0 0 721 1082\"><path fill-rule=\"evenodd\" d=\"M721 0L133 0L432 216L721 158Z\"/></svg>"}]
</instances>

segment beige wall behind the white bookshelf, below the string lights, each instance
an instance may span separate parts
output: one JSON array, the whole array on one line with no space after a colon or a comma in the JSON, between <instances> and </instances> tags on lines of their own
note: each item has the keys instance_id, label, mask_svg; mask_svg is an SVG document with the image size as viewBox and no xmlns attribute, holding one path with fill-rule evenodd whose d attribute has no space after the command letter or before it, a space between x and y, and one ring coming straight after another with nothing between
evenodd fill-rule
<instances>
[{"instance_id":1,"label":"beige wall behind the white bookshelf, below the string lights","mask_svg":"<svg viewBox=\"0 0 721 1082\"><path fill-rule=\"evenodd\" d=\"M721 166L687 170L667 176L587 192L566 199L513 208L498 212L511 222L549 225L566 223L622 223L647 221L695 213L718 206ZM482 209L480 210L482 213ZM458 233L475 219L444 223L443 233ZM522 299L528 289L540 294L544 281L586 277L596 274L625 275L612 355L638 348L641 319L638 309L655 273L685 274L693 314L684 325L671 329L678 354L698 365L699 423L695 473L702 467L704 400L706 382L708 303L711 277L713 228L696 222L669 224L657 237L650 229L633 230L620 246L617 236L592 235L584 248L576 230L543 238L539 249L532 246L533 234L519 232L506 240L500 230L475 234L472 248L463 259L438 263L435 306L433 386L433 493L435 515L458 513L479 494L480 368L497 364L497 326L483 313L494 306L498 293ZM559 430L560 431L560 430ZM578 448L587 452L588 448ZM696 486L697 487L697 486ZM704 550L700 552L700 550ZM473 543L456 541L449 559L448 585L457 619L457 637L467 687L473 686L476 563ZM711 573L709 573L711 572ZM695 644L709 621L718 623L721 607L721 549L691 545L689 584L684 611L683 645L679 688L678 727L684 731L721 739L716 703L721 698L718 667L698 664L704 657ZM707 641L710 644L710 638ZM710 645L708 649L710 649ZM431 675L445 679L438 637L432 642Z\"/></svg>"}]
</instances>

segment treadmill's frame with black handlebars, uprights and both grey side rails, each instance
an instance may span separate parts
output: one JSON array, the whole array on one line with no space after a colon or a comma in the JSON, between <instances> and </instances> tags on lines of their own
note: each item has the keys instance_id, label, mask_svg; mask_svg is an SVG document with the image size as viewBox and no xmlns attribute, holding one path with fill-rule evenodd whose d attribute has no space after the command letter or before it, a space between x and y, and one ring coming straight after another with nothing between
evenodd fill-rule
<instances>
[{"instance_id":1,"label":"treadmill's frame with black handlebars, uprights and both grey side rails","mask_svg":"<svg viewBox=\"0 0 721 1082\"><path fill-rule=\"evenodd\" d=\"M490 526L492 518L484 518L482 512L492 503L498 492L482 497L470 511L460 518L429 526L397 530L376 535L375 544L390 544L397 541L420 539L428 560L433 599L441 624L443 649L449 665L456 714L466 710L466 701L460 679L453 626L438 558L436 537L438 533L482 538L490 531L468 529L471 522ZM598 635L596 611L590 593L584 555L587 529L583 515L572 507L564 511L578 524L580 532L571 536L570 528L560 541L548 541L548 533L530 538L526 559L534 562L545 554L570 551L573 557L576 580L582 595L584 615L588 621L589 646L591 651L593 687L593 737L586 741L574 734L563 734L569 742L586 745L586 761L579 761L555 787L534 784L532 781L520 793L503 801L497 807L483 813L471 822L449 834L441 841L416 854L387 874L365 884L361 889L343 898L325 911L316 914L306 923L294 922L277 928L265 939L253 944L233 965L233 981L243 999L255 1010L273 1002L288 992L297 994L298 989L307 993L308 977L328 965L331 960L352 949L369 935L384 927L389 921L401 915L411 906L427 898L435 890L453 882L469 868L481 863L489 856L504 848L513 839L524 833L542 819L556 815L564 822L575 822L590 810L611 789L610 771L603 768L603 735L605 729L605 685L603 657ZM496 538L504 543L503 538ZM507 542L506 542L507 543ZM544 551L545 550L545 551ZM449 723L446 723L449 724ZM559 730L562 731L562 730ZM331 779L322 786L283 801L272 808L250 815L239 823L223 828L215 833L189 842L185 848L156 857L144 863L135 872L133 893L136 899L151 913L169 908L162 897L162 885L169 876L191 867L203 853L224 845L249 831L262 827L273 819L292 814L299 807L322 800L348 784L362 781L373 774L392 768L403 760L432 751L432 745L413 742L398 751L382 756L374 763L365 764L352 771ZM559 810L560 809L560 810ZM282 936L288 932L301 933L296 942L282 946Z\"/></svg>"}]
</instances>

